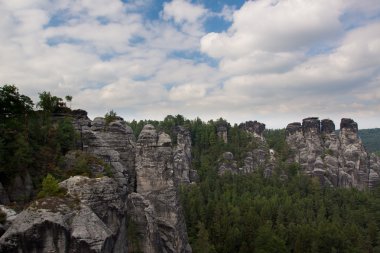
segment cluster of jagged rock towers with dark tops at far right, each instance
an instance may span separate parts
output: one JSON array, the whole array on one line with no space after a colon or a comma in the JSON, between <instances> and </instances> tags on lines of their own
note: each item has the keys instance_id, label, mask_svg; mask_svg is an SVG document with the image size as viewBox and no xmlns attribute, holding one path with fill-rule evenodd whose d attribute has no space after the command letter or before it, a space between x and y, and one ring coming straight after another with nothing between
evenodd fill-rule
<instances>
[{"instance_id":1,"label":"cluster of jagged rock towers with dark tops at far right","mask_svg":"<svg viewBox=\"0 0 380 253\"><path fill-rule=\"evenodd\" d=\"M307 118L286 128L286 141L305 173L321 183L338 187L373 187L379 181L380 164L367 154L358 137L358 125L342 119L339 135L331 120Z\"/></svg>"}]
</instances>

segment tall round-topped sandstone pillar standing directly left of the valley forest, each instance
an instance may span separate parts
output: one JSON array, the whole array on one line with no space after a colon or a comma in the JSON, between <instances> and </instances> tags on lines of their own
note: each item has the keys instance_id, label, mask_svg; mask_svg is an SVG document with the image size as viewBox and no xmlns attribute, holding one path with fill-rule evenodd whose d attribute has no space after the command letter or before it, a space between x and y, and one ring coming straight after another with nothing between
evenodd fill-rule
<instances>
[{"instance_id":1,"label":"tall round-topped sandstone pillar standing directly left of the valley forest","mask_svg":"<svg viewBox=\"0 0 380 253\"><path fill-rule=\"evenodd\" d=\"M136 145L136 192L154 210L162 251L191 252L169 140L169 135L157 134L152 125L146 125L141 131Z\"/></svg>"}]
</instances>

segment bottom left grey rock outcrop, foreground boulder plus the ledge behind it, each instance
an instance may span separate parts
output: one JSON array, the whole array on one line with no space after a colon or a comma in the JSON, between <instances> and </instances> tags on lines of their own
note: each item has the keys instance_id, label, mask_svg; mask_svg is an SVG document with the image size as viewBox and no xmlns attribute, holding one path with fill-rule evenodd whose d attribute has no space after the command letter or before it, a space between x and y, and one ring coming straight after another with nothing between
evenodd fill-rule
<instances>
[{"instance_id":1,"label":"bottom left grey rock outcrop, foreground boulder plus the ledge behind it","mask_svg":"<svg viewBox=\"0 0 380 253\"><path fill-rule=\"evenodd\" d=\"M37 200L18 214L0 252L127 252L117 183L77 176L61 185L70 196Z\"/></svg>"}]
</instances>

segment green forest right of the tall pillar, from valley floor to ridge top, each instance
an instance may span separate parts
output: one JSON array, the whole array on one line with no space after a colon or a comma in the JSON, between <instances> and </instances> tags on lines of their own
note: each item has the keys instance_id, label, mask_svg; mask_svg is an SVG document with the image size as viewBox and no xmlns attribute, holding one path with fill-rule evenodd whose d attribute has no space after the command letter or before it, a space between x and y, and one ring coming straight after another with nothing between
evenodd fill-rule
<instances>
[{"instance_id":1,"label":"green forest right of the tall pillar, from valley floor to ridge top","mask_svg":"<svg viewBox=\"0 0 380 253\"><path fill-rule=\"evenodd\" d=\"M175 118L153 123L170 132L179 124ZM181 121L191 130L193 169L200 175L197 184L181 188L193 252L380 252L379 188L321 187L298 164L286 163L290 151L284 129L264 131L267 148L277 158L270 178L263 170L219 176L223 152L232 152L241 163L258 145L228 123L224 143L217 137L221 121Z\"/></svg>"}]
</instances>

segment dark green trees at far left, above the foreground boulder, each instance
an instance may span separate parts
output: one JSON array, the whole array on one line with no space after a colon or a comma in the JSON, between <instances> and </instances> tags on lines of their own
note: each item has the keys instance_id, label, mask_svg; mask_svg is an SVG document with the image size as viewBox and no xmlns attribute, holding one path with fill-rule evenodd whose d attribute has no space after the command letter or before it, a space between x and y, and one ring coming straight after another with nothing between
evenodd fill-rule
<instances>
[{"instance_id":1,"label":"dark green trees at far left, above the foreground boulder","mask_svg":"<svg viewBox=\"0 0 380 253\"><path fill-rule=\"evenodd\" d=\"M16 86L0 87L0 182L5 188L19 175L30 175L39 189L48 173L62 180L74 174L91 176L94 164L106 167L100 159L84 154L69 166L63 162L78 139L71 109L50 92L40 93L39 98L37 107L42 110L34 110L32 100Z\"/></svg>"}]
</instances>

